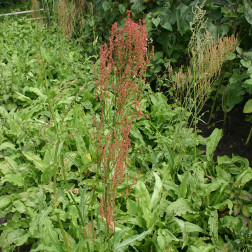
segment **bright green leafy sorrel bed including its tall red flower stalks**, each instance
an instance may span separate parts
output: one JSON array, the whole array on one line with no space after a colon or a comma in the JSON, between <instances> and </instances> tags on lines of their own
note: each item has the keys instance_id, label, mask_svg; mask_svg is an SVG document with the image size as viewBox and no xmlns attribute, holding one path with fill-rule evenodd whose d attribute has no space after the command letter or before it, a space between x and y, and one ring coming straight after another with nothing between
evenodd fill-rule
<instances>
[{"instance_id":1,"label":"bright green leafy sorrel bed including its tall red flower stalks","mask_svg":"<svg viewBox=\"0 0 252 252\"><path fill-rule=\"evenodd\" d=\"M252 171L153 92L144 21L89 58L55 27L0 23L2 251L249 251ZM63 32L64 33L64 32Z\"/></svg>"}]
</instances>

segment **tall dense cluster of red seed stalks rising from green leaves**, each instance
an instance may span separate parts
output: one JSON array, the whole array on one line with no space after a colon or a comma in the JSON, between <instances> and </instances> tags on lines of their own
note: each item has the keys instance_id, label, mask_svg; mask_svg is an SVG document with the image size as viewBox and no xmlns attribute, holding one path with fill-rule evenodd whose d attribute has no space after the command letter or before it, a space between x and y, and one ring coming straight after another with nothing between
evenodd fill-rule
<instances>
[{"instance_id":1,"label":"tall dense cluster of red seed stalks rising from green leaves","mask_svg":"<svg viewBox=\"0 0 252 252\"><path fill-rule=\"evenodd\" d=\"M143 115L139 102L144 74L151 60L147 35L144 22L137 24L127 18L119 31L116 23L112 25L109 44L100 48L96 98L101 102L101 116L100 120L94 116L94 138L104 185L100 215L110 232L114 230L117 187L124 180L131 126Z\"/></svg>"}]
</instances>

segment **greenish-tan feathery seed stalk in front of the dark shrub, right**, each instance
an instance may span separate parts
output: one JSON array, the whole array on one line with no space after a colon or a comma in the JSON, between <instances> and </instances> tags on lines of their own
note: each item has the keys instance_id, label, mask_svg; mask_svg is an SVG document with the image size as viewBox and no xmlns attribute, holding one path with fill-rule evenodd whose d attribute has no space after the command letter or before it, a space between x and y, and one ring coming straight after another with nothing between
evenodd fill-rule
<instances>
[{"instance_id":1,"label":"greenish-tan feathery seed stalk in front of the dark shrub, right","mask_svg":"<svg viewBox=\"0 0 252 252\"><path fill-rule=\"evenodd\" d=\"M203 10L205 1L200 6L196 5L193 11L194 19L190 23L192 36L189 42L189 56L191 65L187 71L181 67L179 71L173 72L168 65L168 72L174 88L174 96L179 104L193 113L194 124L194 157L196 160L196 126L198 116L203 109L212 91L212 83L219 77L222 65L235 51L237 38L219 38L215 42L206 29L204 19L206 11Z\"/></svg>"}]
</instances>

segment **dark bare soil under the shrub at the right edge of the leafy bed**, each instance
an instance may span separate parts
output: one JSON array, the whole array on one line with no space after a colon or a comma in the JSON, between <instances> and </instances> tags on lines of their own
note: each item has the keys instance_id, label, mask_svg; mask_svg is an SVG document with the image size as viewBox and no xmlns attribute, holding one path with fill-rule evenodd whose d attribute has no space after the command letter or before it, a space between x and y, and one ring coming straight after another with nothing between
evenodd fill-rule
<instances>
[{"instance_id":1,"label":"dark bare soil under the shrub at the right edge of the leafy bed","mask_svg":"<svg viewBox=\"0 0 252 252\"><path fill-rule=\"evenodd\" d=\"M252 139L248 144L245 144L252 123L245 121L246 115L242 110L242 106L237 106L228 113L227 123L223 132L224 134L217 146L214 158L223 155L227 155L229 157L237 155L247 158L250 163L250 167L252 167ZM209 112L208 109L205 108L204 115L201 119L204 122L207 122L208 118ZM223 111L218 111L215 113L215 118L212 119L210 124L199 122L198 129L201 130L200 134L203 137L208 137L215 128L223 129L223 119Z\"/></svg>"}]
</instances>

